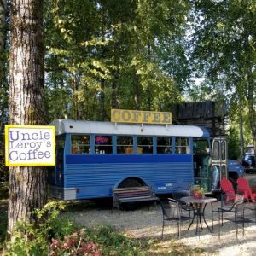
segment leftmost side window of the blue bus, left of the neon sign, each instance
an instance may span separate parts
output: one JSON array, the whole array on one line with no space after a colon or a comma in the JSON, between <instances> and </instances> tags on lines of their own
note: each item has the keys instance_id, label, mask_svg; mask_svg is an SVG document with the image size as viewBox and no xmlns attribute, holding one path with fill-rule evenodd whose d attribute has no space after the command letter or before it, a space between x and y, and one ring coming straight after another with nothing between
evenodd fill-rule
<instances>
[{"instance_id":1,"label":"leftmost side window of the blue bus, left of the neon sign","mask_svg":"<svg viewBox=\"0 0 256 256\"><path fill-rule=\"evenodd\" d=\"M89 154L90 135L72 135L71 152L72 154Z\"/></svg>"}]
</instances>

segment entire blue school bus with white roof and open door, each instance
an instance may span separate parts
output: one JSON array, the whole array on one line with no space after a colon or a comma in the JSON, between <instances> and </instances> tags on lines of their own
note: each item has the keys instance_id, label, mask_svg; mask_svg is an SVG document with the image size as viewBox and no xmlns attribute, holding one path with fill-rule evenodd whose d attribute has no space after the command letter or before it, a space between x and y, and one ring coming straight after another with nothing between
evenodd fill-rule
<instances>
[{"instance_id":1,"label":"entire blue school bus with white roof and open door","mask_svg":"<svg viewBox=\"0 0 256 256\"><path fill-rule=\"evenodd\" d=\"M227 177L227 143L194 125L138 125L59 119L51 195L63 200L111 197L113 188L147 185L156 195L177 187L218 192Z\"/></svg>"}]
</instances>

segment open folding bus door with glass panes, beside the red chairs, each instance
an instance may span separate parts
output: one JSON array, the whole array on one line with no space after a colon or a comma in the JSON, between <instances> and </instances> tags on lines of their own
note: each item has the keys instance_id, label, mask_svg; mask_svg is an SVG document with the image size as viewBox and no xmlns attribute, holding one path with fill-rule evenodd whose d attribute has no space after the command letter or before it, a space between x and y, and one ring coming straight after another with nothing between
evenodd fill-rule
<instances>
[{"instance_id":1,"label":"open folding bus door with glass panes, beside the red chairs","mask_svg":"<svg viewBox=\"0 0 256 256\"><path fill-rule=\"evenodd\" d=\"M220 180L228 177L227 142L224 137L216 137L212 141L212 190L220 190Z\"/></svg>"}]
</instances>

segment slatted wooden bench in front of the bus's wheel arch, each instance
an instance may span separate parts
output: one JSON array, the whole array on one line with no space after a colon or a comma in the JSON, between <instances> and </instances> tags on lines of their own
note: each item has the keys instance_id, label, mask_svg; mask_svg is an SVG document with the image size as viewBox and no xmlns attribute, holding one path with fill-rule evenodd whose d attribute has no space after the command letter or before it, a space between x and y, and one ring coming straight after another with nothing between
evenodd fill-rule
<instances>
[{"instance_id":1,"label":"slatted wooden bench in front of the bus's wheel arch","mask_svg":"<svg viewBox=\"0 0 256 256\"><path fill-rule=\"evenodd\" d=\"M158 197L154 195L154 192L148 186L113 189L112 212L114 208L117 208L119 211L121 203L143 201L158 201Z\"/></svg>"}]
</instances>

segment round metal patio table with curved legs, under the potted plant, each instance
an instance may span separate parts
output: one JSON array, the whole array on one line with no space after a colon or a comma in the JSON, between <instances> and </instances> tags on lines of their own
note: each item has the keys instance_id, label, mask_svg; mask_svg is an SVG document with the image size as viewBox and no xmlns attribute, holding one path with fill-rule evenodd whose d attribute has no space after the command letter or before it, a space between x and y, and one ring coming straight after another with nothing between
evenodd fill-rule
<instances>
[{"instance_id":1,"label":"round metal patio table with curved legs, under the potted plant","mask_svg":"<svg viewBox=\"0 0 256 256\"><path fill-rule=\"evenodd\" d=\"M196 216L196 230L195 233L199 233L202 229L202 223L201 223L201 217L203 218L204 223L207 226L207 229L212 232L213 231L213 212L212 212L212 203L218 201L216 198L214 197L202 197L199 199L195 199L193 196L185 196L182 197L180 199L180 201L183 201L186 204L191 204L193 206L193 210L194 210L194 214L193 214L193 218L189 224L189 228L190 229L191 225L194 223L195 220L195 216ZM207 204L211 204L211 212L212 212L212 230L209 228L207 221L206 221L206 217L205 217L205 210L207 207ZM199 224L200 224L200 229L199 229Z\"/></svg>"}]
</instances>

